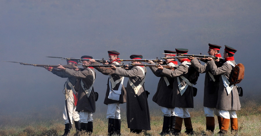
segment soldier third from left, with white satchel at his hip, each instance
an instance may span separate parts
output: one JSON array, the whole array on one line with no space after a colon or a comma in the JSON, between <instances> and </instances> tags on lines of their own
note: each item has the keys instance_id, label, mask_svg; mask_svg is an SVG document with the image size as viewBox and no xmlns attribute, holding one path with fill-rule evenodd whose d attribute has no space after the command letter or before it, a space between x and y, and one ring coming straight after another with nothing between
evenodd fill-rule
<instances>
[{"instance_id":1,"label":"soldier third from left, with white satchel at his hip","mask_svg":"<svg viewBox=\"0 0 261 136\"><path fill-rule=\"evenodd\" d=\"M122 64L119 60L119 52L108 51L109 60L111 65ZM99 65L94 59L90 62L94 65ZM115 70L101 67L94 67L104 75L109 75L107 82L107 91L104 99L104 104L108 105L106 118L108 119L108 135L121 135L121 116L120 104L126 102L126 90L123 86L124 77L116 75ZM112 92L113 91L113 92ZM108 98L109 94L117 92L117 98Z\"/></svg>"}]
</instances>

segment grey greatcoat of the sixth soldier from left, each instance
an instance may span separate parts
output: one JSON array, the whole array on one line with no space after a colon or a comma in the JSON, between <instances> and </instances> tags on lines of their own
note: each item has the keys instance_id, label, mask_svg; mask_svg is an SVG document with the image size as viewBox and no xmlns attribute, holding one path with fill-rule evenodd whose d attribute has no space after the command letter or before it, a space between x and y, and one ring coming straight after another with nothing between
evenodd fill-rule
<instances>
[{"instance_id":1,"label":"grey greatcoat of the sixth soldier from left","mask_svg":"<svg viewBox=\"0 0 261 136\"><path fill-rule=\"evenodd\" d=\"M190 63L190 62L187 62ZM191 64L191 63L190 63ZM189 67L191 67L189 65ZM180 64L177 69L172 71L171 69L166 69L163 68L162 74L171 78L179 78L182 87L186 85L186 82L180 78L180 76L184 76L185 78L188 78L189 74L189 67L184 64ZM174 94L174 107L179 107L179 108L194 108L194 102L193 102L193 87L188 86L184 94L181 96L179 87L178 87L178 82L177 80L174 80L173 82L173 91L175 92Z\"/></svg>"}]
</instances>

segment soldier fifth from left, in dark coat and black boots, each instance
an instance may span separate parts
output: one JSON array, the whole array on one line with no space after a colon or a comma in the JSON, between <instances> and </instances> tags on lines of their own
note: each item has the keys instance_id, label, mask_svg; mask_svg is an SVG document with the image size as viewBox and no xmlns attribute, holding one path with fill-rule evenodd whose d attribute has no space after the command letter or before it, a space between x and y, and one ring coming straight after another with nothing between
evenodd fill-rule
<instances>
[{"instance_id":1,"label":"soldier fifth from left, in dark coat and black boots","mask_svg":"<svg viewBox=\"0 0 261 136\"><path fill-rule=\"evenodd\" d=\"M168 51L164 50L165 57L173 57L176 56L175 51ZM149 60L150 64L153 61ZM166 64L171 67L178 67L177 61L175 58L166 59ZM167 135L174 132L175 126L175 112L174 112L174 94L173 91L173 82L175 78L169 78L163 75L161 72L162 70L157 69L156 67L150 67L151 71L155 74L155 76L160 77L160 81L158 83L157 91L153 96L153 102L156 102L160 107L161 111L163 112L163 125L162 125L162 132L160 135Z\"/></svg>"}]
</instances>

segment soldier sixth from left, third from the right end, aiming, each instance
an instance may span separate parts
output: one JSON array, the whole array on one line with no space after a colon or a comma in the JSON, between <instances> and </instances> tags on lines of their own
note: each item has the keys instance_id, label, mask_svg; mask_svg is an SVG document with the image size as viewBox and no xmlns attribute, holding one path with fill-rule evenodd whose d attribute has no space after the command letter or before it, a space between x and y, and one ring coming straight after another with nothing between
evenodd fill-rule
<instances>
[{"instance_id":1,"label":"soldier sixth from left, third from the right end, aiming","mask_svg":"<svg viewBox=\"0 0 261 136\"><path fill-rule=\"evenodd\" d=\"M175 49L177 54L187 54L188 49ZM171 78L176 78L173 83L173 91L174 94L174 111L176 116L176 123L174 127L173 135L179 135L182 122L184 119L184 124L186 127L186 134L193 135L193 128L191 124L191 118L188 111L188 108L194 108L193 103L193 87L192 83L188 80L188 72L191 67L190 60L187 58L179 58L178 59L181 64L175 70L166 69L158 67L158 69L162 69L162 74Z\"/></svg>"}]
</instances>

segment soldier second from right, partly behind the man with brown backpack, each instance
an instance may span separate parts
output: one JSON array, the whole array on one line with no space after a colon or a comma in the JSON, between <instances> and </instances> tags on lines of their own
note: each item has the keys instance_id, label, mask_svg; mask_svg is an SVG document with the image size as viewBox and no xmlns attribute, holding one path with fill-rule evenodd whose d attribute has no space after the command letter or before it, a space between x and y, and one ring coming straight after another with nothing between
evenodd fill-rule
<instances>
[{"instance_id":1,"label":"soldier second from right, partly behind the man with brown backpack","mask_svg":"<svg viewBox=\"0 0 261 136\"><path fill-rule=\"evenodd\" d=\"M211 56L216 56L222 58L219 51L221 46L214 45L209 43L209 51L208 54ZM213 76L211 70L209 69L209 65L206 63L205 65L201 65L200 62L194 57L189 58L191 60L191 65L195 67L195 69L199 73L206 73L205 75L205 86L204 86L204 112L206 116L206 130L214 133L215 129L215 118L214 113L218 115L218 111L216 110L216 105L218 101L218 87L219 87L219 77ZM220 61L215 61L217 67L222 66L223 63ZM221 117L218 115L218 122L221 127Z\"/></svg>"}]
</instances>

